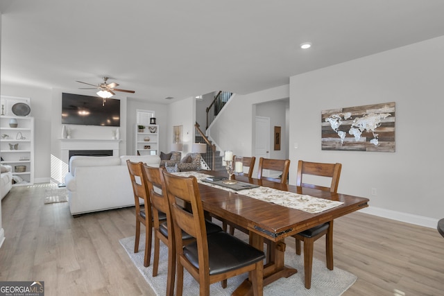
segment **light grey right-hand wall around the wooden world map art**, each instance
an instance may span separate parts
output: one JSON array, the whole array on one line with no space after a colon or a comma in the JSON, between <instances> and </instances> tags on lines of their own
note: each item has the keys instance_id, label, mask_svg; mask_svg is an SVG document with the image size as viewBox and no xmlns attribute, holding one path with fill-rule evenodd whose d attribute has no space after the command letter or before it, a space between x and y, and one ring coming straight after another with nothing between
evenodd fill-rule
<instances>
[{"instance_id":1,"label":"light grey right-hand wall around the wooden world map art","mask_svg":"<svg viewBox=\"0 0 444 296\"><path fill-rule=\"evenodd\" d=\"M291 77L290 159L341 162L341 193L370 198L375 214L436 227L444 215L443 52L439 37ZM395 153L321 150L321 110L392 101Z\"/></svg>"}]
</instances>

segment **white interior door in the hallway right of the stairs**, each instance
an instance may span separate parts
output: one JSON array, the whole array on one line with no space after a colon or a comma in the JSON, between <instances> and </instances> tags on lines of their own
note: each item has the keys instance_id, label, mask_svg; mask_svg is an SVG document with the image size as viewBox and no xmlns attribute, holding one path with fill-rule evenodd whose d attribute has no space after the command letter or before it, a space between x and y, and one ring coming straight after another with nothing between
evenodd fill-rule
<instances>
[{"instance_id":1,"label":"white interior door in the hallway right of the stairs","mask_svg":"<svg viewBox=\"0 0 444 296\"><path fill-rule=\"evenodd\" d=\"M270 158L270 117L256 116L255 157L256 164L253 176L257 176L259 158ZM262 175L268 176L268 171L264 171Z\"/></svg>"}]
</instances>

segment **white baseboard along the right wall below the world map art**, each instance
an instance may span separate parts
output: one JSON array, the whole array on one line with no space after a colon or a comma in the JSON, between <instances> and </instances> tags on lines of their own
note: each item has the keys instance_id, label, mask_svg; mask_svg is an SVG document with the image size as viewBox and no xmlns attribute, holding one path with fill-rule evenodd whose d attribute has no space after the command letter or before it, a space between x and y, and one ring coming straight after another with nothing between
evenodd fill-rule
<instances>
[{"instance_id":1,"label":"white baseboard along the right wall below the world map art","mask_svg":"<svg viewBox=\"0 0 444 296\"><path fill-rule=\"evenodd\" d=\"M359 211L382 218L388 218L391 220L397 220L400 222L410 223L413 225L419 225L429 228L436 228L436 225L438 225L438 219L407 214L407 213L402 213L400 211L392 211L389 209L382 209L378 207L369 206Z\"/></svg>"}]
</instances>

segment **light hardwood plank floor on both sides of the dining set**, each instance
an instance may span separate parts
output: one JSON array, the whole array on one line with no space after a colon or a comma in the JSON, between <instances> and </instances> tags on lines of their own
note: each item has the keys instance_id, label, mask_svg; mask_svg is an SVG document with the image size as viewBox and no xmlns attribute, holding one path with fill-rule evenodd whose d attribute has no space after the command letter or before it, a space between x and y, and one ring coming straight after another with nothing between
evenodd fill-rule
<instances>
[{"instance_id":1,"label":"light hardwood plank floor on both sides of the dining set","mask_svg":"<svg viewBox=\"0 0 444 296\"><path fill-rule=\"evenodd\" d=\"M46 189L14 187L2 200L0 281L44 281L47 296L154 295L119 243L134 235L134 208L72 218L67 202L44 204ZM314 255L325 261L323 238ZM334 266L358 277L345 296L444 295L436 229L349 214L334 221Z\"/></svg>"}]
</instances>

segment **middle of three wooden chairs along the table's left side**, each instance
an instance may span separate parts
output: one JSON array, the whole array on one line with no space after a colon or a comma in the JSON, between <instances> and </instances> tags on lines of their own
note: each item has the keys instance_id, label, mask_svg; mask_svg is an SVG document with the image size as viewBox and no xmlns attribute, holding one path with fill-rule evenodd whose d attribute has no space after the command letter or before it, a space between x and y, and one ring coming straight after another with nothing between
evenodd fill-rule
<instances>
[{"instance_id":1,"label":"middle of three wooden chairs along the table's left side","mask_svg":"<svg viewBox=\"0 0 444 296\"><path fill-rule=\"evenodd\" d=\"M160 241L168 247L168 276L167 276L167 295L174 293L174 280L176 277L176 241L174 239L173 222L169 211L168 198L165 190L165 183L162 171L165 168L155 168L144 164L143 173L148 186L148 193L151 199L151 207L153 207L153 229L154 229L154 259L153 259L153 277L157 276L159 268ZM157 211L155 211L157 210ZM167 216L166 221L158 219L159 212ZM222 229L218 225L205 220L207 233L221 232ZM186 232L181 232L182 242L184 244L195 241L194 237Z\"/></svg>"}]
</instances>

